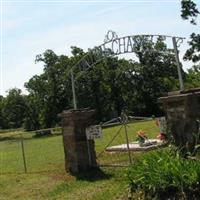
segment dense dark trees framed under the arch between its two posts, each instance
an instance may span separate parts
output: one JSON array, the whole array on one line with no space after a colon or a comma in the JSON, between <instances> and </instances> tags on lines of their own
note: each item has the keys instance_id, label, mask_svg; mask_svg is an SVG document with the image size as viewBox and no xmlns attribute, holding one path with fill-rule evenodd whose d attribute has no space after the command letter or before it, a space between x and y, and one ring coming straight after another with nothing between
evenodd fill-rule
<instances>
[{"instance_id":1,"label":"dense dark trees framed under the arch between its two posts","mask_svg":"<svg viewBox=\"0 0 200 200\"><path fill-rule=\"evenodd\" d=\"M174 55L163 38L154 44L138 37L135 44L139 62L108 57L82 72L76 85L79 106L97 109L100 119L120 115L124 108L136 115L160 114L157 98L177 85Z\"/></svg>"}]
</instances>

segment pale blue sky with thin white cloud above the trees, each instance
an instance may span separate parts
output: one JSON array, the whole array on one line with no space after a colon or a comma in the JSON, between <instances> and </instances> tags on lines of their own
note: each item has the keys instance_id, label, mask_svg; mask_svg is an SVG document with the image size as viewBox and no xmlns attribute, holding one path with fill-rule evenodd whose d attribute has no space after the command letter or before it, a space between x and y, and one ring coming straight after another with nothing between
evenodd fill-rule
<instances>
[{"instance_id":1,"label":"pale blue sky with thin white cloud above the trees","mask_svg":"<svg viewBox=\"0 0 200 200\"><path fill-rule=\"evenodd\" d=\"M185 37L182 60L192 32L199 33L180 17L179 0L0 0L1 62L0 95L17 87L27 93L24 83L43 72L35 57L51 49L71 55L70 47L87 50L103 43L108 30L119 37L135 34L164 34ZM195 1L200 8L200 2ZM126 58L134 55L125 56Z\"/></svg>"}]
</instances>

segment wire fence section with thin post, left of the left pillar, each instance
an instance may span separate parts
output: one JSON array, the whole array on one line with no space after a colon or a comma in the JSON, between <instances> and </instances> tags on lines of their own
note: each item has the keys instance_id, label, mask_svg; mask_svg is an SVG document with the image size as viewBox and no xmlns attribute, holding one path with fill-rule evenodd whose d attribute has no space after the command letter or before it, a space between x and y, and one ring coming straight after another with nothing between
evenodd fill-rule
<instances>
[{"instance_id":1,"label":"wire fence section with thin post, left of the left pillar","mask_svg":"<svg viewBox=\"0 0 200 200\"><path fill-rule=\"evenodd\" d=\"M51 129L52 132L55 132ZM59 132L48 136L17 133L0 138L0 173L35 173L64 169L63 140ZM42 133L43 134L43 133Z\"/></svg>"}]
</instances>

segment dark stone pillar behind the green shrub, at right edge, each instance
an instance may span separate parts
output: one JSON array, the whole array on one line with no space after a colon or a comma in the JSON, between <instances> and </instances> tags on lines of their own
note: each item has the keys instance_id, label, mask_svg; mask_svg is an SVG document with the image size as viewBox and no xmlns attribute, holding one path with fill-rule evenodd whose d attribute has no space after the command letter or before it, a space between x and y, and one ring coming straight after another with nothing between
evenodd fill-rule
<instances>
[{"instance_id":1,"label":"dark stone pillar behind the green shrub, at right edge","mask_svg":"<svg viewBox=\"0 0 200 200\"><path fill-rule=\"evenodd\" d=\"M166 112L168 130L175 144L192 151L199 143L200 89L171 92L159 99Z\"/></svg>"}]
</instances>

